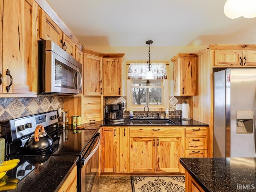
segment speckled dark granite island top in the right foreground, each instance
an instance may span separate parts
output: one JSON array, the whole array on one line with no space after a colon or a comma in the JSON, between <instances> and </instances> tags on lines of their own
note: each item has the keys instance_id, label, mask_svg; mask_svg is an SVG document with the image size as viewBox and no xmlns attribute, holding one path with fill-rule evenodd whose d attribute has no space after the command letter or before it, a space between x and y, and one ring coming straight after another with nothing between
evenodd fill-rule
<instances>
[{"instance_id":1,"label":"speckled dark granite island top in the right foreground","mask_svg":"<svg viewBox=\"0 0 256 192\"><path fill-rule=\"evenodd\" d=\"M256 158L180 158L205 192L256 191Z\"/></svg>"}]
</instances>

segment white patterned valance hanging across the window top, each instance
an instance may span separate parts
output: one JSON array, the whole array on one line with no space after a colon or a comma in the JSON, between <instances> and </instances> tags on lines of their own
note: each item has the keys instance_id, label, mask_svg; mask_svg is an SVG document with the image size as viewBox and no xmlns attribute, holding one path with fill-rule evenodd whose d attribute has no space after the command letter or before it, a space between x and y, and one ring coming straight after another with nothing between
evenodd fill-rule
<instances>
[{"instance_id":1,"label":"white patterned valance hanging across the window top","mask_svg":"<svg viewBox=\"0 0 256 192\"><path fill-rule=\"evenodd\" d=\"M167 79L166 63L151 63L154 79ZM148 72L147 63L130 63L128 79L146 79Z\"/></svg>"}]
</instances>

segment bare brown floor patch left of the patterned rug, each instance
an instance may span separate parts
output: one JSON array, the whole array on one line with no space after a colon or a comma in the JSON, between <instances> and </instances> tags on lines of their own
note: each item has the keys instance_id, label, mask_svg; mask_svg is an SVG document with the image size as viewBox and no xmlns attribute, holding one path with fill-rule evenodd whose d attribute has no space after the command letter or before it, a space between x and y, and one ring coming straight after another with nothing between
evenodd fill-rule
<instances>
[{"instance_id":1,"label":"bare brown floor patch left of the patterned rug","mask_svg":"<svg viewBox=\"0 0 256 192\"><path fill-rule=\"evenodd\" d=\"M102 176L99 192L132 192L131 176Z\"/></svg>"}]
</instances>

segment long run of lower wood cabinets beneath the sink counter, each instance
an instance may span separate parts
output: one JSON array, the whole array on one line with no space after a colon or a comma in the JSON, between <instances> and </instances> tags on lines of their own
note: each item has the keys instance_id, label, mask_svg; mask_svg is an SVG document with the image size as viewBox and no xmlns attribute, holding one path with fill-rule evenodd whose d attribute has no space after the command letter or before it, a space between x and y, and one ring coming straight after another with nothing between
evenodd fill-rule
<instances>
[{"instance_id":1,"label":"long run of lower wood cabinets beneath the sink counter","mask_svg":"<svg viewBox=\"0 0 256 192\"><path fill-rule=\"evenodd\" d=\"M180 157L207 157L208 127L102 127L101 172L184 172Z\"/></svg>"}]
</instances>

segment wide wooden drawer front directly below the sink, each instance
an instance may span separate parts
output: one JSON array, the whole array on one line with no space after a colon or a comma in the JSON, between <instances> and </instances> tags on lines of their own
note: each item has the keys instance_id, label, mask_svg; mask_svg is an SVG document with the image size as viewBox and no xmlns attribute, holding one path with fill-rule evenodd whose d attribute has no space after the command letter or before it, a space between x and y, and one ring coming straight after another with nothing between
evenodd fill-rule
<instances>
[{"instance_id":1,"label":"wide wooden drawer front directly below the sink","mask_svg":"<svg viewBox=\"0 0 256 192\"><path fill-rule=\"evenodd\" d=\"M182 137L183 128L130 127L130 137Z\"/></svg>"}]
</instances>

